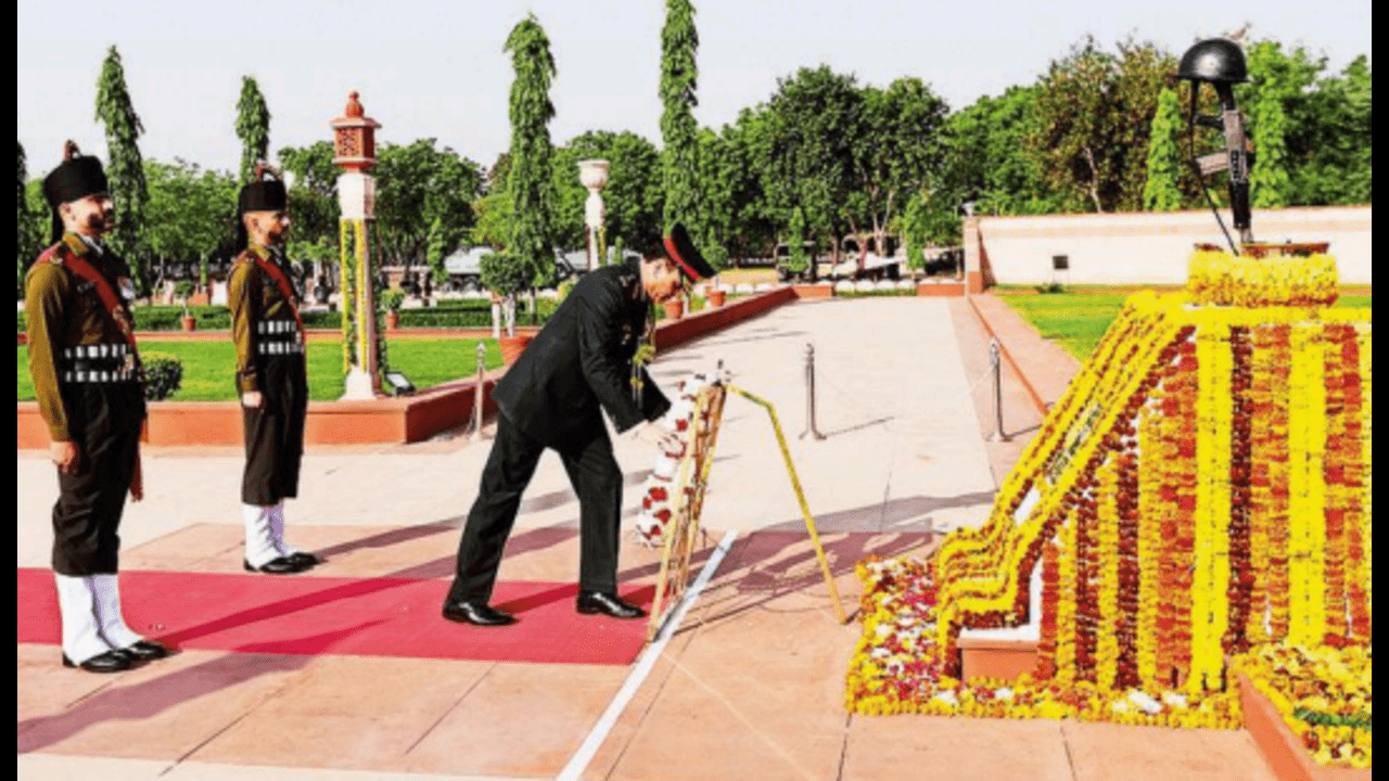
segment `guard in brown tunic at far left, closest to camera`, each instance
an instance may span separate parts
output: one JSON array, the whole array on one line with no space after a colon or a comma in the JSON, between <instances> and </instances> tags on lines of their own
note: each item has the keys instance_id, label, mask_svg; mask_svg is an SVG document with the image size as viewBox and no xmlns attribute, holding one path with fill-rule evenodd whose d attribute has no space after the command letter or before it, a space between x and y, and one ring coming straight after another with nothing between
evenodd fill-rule
<instances>
[{"instance_id":1,"label":"guard in brown tunic at far left, closest to camera","mask_svg":"<svg viewBox=\"0 0 1389 781\"><path fill-rule=\"evenodd\" d=\"M101 243L115 227L106 172L71 140L43 179L56 242L25 277L29 374L58 467L53 573L63 663L117 673L168 649L121 616L117 529L139 500L144 384L135 346L131 271Z\"/></svg>"}]
</instances>

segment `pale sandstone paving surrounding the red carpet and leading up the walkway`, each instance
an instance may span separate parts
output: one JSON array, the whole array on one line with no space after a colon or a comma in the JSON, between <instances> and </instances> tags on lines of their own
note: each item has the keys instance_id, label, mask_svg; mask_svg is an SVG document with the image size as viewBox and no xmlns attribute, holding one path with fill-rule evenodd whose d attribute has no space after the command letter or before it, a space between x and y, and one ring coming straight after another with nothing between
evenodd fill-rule
<instances>
[{"instance_id":1,"label":"pale sandstone paving surrounding the red carpet and leading up the walkway","mask_svg":"<svg viewBox=\"0 0 1389 781\"><path fill-rule=\"evenodd\" d=\"M1004 371L1010 442L988 442L988 335L964 302L831 300L782 307L661 354L663 386L722 359L776 406L845 611L854 564L924 556L979 525L1039 414ZM1006 315L1004 313L1003 315ZM1000 315L1000 317L1003 317ZM806 343L817 428L806 428ZM1024 371L1028 367L1024 365ZM488 427L489 429L492 425ZM486 434L486 431L485 431ZM651 584L658 552L626 535L653 453L614 441L625 472L622 589ZM447 588L488 442L311 447L289 535L328 559L299 577L432 578ZM147 449L147 499L128 506L126 568L240 567L239 449ZM18 561L46 567L56 493L42 453L17 461ZM767 413L729 397L693 571L738 538L589 763L585 778L1268 778L1242 731L1054 721L860 717L843 707L858 624L840 624ZM578 504L542 460L500 577L569 582ZM447 624L439 620L440 631ZM178 780L554 778L629 667L182 652L121 675L19 646L19 777ZM1185 764L1164 764L1182 753ZM1204 759L1197 759L1204 757Z\"/></svg>"}]
</instances>

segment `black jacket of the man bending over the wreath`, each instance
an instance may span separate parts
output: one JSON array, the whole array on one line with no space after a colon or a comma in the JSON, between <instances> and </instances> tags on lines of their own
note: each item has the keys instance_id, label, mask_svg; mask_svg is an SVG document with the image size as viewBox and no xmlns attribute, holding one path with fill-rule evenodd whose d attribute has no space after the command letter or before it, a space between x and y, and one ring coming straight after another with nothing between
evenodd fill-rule
<instances>
[{"instance_id":1,"label":"black jacket of the man bending over the wreath","mask_svg":"<svg viewBox=\"0 0 1389 781\"><path fill-rule=\"evenodd\" d=\"M618 431L661 417L671 403L644 368L642 406L632 402L632 356L649 307L635 258L583 275L497 382L497 407L557 449L603 434L600 410Z\"/></svg>"}]
</instances>

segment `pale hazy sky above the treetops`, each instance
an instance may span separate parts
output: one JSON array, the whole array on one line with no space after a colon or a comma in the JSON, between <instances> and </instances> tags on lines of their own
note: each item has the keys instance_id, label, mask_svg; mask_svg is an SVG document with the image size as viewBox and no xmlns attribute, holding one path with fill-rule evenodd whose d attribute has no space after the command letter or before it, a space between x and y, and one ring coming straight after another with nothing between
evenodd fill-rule
<instances>
[{"instance_id":1,"label":"pale hazy sky above the treetops","mask_svg":"<svg viewBox=\"0 0 1389 781\"><path fill-rule=\"evenodd\" d=\"M1032 83L1093 35L1132 35L1181 56L1251 22L1325 54L1340 69L1371 53L1370 0L692 0L701 125L732 122L779 78L828 64L860 83L918 76L951 110ZM328 122L358 90L382 124L378 143L436 138L490 165L510 145L507 33L533 13L550 38L556 145L593 129L660 145L657 97L664 0L19 0L18 126L29 175L71 138L106 160L96 81L115 46L146 158L235 170L242 76L271 111L271 150L331 139Z\"/></svg>"}]
</instances>

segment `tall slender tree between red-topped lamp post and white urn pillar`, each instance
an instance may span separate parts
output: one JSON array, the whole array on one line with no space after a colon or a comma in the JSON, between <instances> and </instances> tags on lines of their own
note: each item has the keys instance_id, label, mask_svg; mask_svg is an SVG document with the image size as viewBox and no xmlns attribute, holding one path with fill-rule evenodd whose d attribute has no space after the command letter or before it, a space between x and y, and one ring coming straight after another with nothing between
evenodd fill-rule
<instances>
[{"instance_id":1,"label":"tall slender tree between red-topped lamp post and white urn pillar","mask_svg":"<svg viewBox=\"0 0 1389 781\"><path fill-rule=\"evenodd\" d=\"M535 288L554 283L551 239L553 193L550 186L550 83L554 57L550 39L535 14L521 19L507 36L504 51L511 54L511 240L506 257L518 263L531 281L531 314L535 317Z\"/></svg>"}]
</instances>

